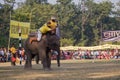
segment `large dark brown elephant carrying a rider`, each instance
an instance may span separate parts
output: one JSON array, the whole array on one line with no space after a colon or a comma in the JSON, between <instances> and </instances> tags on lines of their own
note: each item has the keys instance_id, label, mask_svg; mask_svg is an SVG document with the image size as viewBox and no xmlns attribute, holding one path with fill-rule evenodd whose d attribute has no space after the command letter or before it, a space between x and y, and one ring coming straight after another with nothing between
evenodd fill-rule
<instances>
[{"instance_id":1,"label":"large dark brown elephant carrying a rider","mask_svg":"<svg viewBox=\"0 0 120 80\"><path fill-rule=\"evenodd\" d=\"M26 55L25 69L32 68L32 59L36 56L36 62L41 60L43 69L51 69L51 50L58 52L57 65L60 67L60 40L51 32L47 32L40 41L29 42L30 36L25 40L24 49Z\"/></svg>"}]
</instances>

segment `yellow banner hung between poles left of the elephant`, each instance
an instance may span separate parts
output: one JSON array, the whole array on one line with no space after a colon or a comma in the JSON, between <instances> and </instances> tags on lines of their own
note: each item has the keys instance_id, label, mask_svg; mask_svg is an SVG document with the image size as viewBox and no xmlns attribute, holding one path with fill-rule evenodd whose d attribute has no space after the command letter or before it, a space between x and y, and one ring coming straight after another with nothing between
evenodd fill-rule
<instances>
[{"instance_id":1,"label":"yellow banner hung between poles left of the elephant","mask_svg":"<svg viewBox=\"0 0 120 80\"><path fill-rule=\"evenodd\" d=\"M10 38L19 38L19 29L21 29L22 39L26 39L30 30L30 23L10 21Z\"/></svg>"}]
</instances>

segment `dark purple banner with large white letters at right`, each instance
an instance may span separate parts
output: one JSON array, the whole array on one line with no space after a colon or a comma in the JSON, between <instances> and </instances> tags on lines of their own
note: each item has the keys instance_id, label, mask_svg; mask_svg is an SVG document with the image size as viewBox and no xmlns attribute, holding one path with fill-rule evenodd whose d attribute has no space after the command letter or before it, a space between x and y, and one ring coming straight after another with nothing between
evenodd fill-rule
<instances>
[{"instance_id":1,"label":"dark purple banner with large white letters at right","mask_svg":"<svg viewBox=\"0 0 120 80\"><path fill-rule=\"evenodd\" d=\"M120 30L102 32L103 41L120 41Z\"/></svg>"}]
</instances>

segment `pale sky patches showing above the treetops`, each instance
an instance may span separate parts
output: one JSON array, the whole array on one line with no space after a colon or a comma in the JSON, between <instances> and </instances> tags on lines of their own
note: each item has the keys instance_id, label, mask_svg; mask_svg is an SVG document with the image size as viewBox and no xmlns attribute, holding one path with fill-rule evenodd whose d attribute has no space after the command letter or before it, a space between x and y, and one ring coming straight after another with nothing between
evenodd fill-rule
<instances>
[{"instance_id":1,"label":"pale sky patches showing above the treetops","mask_svg":"<svg viewBox=\"0 0 120 80\"><path fill-rule=\"evenodd\" d=\"M25 0L16 0L17 2L24 2ZM76 4L80 1L80 0L73 0ZM95 2L99 3L99 2L102 2L102 1L105 1L105 0L94 0ZM108 1L108 0L106 0ZM116 3L120 0L109 0L111 1L112 3ZM56 0L48 0L49 3L51 4L55 4L56 3ZM0 0L0 3L3 3L3 0ZM17 7L17 5L15 5L15 8Z\"/></svg>"}]
</instances>

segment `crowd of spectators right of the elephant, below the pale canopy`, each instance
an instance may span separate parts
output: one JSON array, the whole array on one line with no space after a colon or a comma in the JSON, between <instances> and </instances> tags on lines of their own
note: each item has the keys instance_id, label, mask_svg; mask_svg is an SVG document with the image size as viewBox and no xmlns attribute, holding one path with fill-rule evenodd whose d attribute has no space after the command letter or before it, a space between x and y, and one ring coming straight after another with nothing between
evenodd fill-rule
<instances>
[{"instance_id":1,"label":"crowd of spectators right of the elephant, below the pale canopy","mask_svg":"<svg viewBox=\"0 0 120 80\"><path fill-rule=\"evenodd\" d=\"M62 59L118 59L119 49L61 51Z\"/></svg>"}]
</instances>

